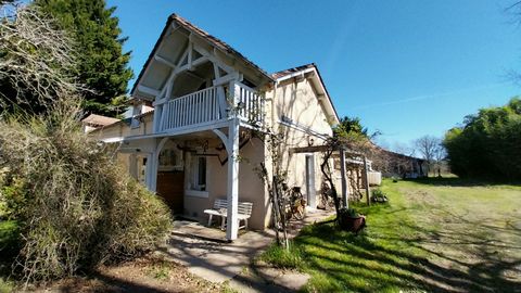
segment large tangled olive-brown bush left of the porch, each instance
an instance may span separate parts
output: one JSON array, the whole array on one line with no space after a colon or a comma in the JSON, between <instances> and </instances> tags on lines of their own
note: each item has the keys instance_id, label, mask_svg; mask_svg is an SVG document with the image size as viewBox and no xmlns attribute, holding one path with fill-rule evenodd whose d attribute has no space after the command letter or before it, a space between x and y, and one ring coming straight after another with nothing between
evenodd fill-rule
<instances>
[{"instance_id":1,"label":"large tangled olive-brown bush left of the porch","mask_svg":"<svg viewBox=\"0 0 521 293\"><path fill-rule=\"evenodd\" d=\"M68 111L0 120L0 168L11 178L2 198L23 239L13 269L27 281L137 256L171 224L166 205L115 163L110 146L85 136Z\"/></svg>"}]
</instances>

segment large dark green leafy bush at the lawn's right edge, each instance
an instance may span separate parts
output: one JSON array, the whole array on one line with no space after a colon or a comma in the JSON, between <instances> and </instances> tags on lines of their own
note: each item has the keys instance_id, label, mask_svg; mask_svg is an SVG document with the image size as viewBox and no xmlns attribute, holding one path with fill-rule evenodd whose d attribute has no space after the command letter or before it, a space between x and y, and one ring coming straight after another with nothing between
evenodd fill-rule
<instances>
[{"instance_id":1,"label":"large dark green leafy bush at the lawn's right edge","mask_svg":"<svg viewBox=\"0 0 521 293\"><path fill-rule=\"evenodd\" d=\"M452 173L460 177L521 178L521 100L482 109L462 127L447 131L444 145Z\"/></svg>"}]
</instances>

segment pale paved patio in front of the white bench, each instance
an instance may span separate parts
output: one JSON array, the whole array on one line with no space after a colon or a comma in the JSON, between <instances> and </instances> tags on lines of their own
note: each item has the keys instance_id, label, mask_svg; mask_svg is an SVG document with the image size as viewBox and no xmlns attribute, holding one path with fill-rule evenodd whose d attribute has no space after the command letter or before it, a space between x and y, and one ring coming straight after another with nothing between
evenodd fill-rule
<instances>
[{"instance_id":1,"label":"pale paved patio in front of the white bench","mask_svg":"<svg viewBox=\"0 0 521 293\"><path fill-rule=\"evenodd\" d=\"M303 220L292 220L290 222L290 237L295 237L304 226L321 221L333 213L321 209L308 211ZM237 280L242 279L239 275L247 271L254 257L260 254L274 240L275 232L270 229L265 231L241 230L239 238L228 243L226 233L218 228L208 228L195 221L177 220L167 245L162 247L161 251L168 258L186 266L191 273L212 282L224 282L233 279L236 276L238 276ZM283 278L283 276L276 276L276 272L269 271L269 268L266 269L265 273L260 271L260 275L266 275L270 282L280 279L282 282L280 285L290 290L296 290L298 288L294 286L302 285L298 282L291 284L292 281L298 279L298 276ZM232 280L230 283L237 283L237 280ZM300 280L305 283L307 278L304 280L301 278ZM247 283L247 280L245 282ZM241 281L236 285L240 286L240 283ZM259 291L254 290L252 284L245 285L244 289L247 288L253 290L252 292Z\"/></svg>"}]
</instances>

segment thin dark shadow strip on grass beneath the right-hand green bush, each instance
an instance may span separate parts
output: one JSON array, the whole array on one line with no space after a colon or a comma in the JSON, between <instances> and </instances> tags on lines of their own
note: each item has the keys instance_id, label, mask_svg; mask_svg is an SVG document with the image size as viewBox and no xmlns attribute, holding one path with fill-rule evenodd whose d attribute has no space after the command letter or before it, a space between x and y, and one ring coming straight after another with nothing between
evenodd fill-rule
<instances>
[{"instance_id":1,"label":"thin dark shadow strip on grass beneath the right-hand green bush","mask_svg":"<svg viewBox=\"0 0 521 293\"><path fill-rule=\"evenodd\" d=\"M490 187L490 186L519 186L521 181L499 181L493 179L472 179L472 178L459 178L459 177L428 177L417 179L403 179L402 181L416 182L428 186L447 186L447 187Z\"/></svg>"}]
</instances>

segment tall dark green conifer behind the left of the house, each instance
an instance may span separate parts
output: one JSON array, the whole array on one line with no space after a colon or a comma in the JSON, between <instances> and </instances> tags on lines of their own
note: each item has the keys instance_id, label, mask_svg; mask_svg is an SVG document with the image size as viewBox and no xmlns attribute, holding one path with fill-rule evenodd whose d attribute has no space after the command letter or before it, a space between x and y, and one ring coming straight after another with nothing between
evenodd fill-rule
<instances>
[{"instance_id":1,"label":"tall dark green conifer behind the left of the house","mask_svg":"<svg viewBox=\"0 0 521 293\"><path fill-rule=\"evenodd\" d=\"M123 113L128 80L130 52L123 52L127 38L122 37L115 7L104 0L35 0L42 11L54 16L68 30L78 47L78 82L90 91L85 95L84 110L115 116Z\"/></svg>"}]
</instances>

